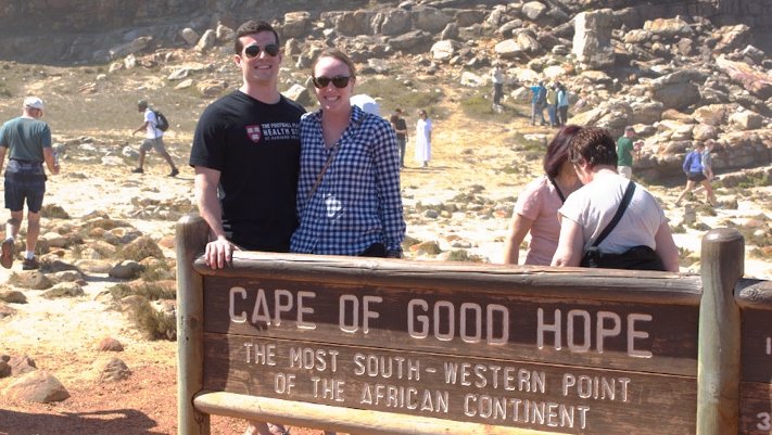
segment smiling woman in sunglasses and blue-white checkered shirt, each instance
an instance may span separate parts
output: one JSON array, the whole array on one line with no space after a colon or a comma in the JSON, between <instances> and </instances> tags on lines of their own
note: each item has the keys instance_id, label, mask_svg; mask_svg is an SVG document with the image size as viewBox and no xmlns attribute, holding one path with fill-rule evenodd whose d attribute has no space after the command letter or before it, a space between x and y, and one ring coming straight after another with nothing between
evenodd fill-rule
<instances>
[{"instance_id":1,"label":"smiling woman in sunglasses and blue-white checkered shirt","mask_svg":"<svg viewBox=\"0 0 772 435\"><path fill-rule=\"evenodd\" d=\"M299 227L290 251L401 257L400 149L380 116L351 104L356 68L327 49L312 66L320 108L301 118Z\"/></svg>"}]
</instances>

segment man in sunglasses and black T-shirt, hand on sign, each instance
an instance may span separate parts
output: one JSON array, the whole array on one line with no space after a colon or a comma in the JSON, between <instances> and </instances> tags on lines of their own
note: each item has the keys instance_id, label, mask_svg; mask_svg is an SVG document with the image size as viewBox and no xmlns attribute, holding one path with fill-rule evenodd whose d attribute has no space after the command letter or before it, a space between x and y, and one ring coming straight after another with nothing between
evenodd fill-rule
<instances>
[{"instance_id":1,"label":"man in sunglasses and black T-shirt, hand on sign","mask_svg":"<svg viewBox=\"0 0 772 435\"><path fill-rule=\"evenodd\" d=\"M289 252L298 226L300 117L305 110L278 90L279 36L265 22L236 30L241 87L206 107L190 152L199 214L210 226L204 259L212 269L233 251ZM222 195L218 195L218 190ZM245 435L280 435L280 424L250 421Z\"/></svg>"}]
</instances>

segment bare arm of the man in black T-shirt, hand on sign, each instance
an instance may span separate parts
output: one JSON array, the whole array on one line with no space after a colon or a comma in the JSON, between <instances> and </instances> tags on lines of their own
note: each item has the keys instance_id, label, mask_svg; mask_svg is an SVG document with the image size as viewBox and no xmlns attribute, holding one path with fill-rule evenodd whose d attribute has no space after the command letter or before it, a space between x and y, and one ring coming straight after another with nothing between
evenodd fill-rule
<instances>
[{"instance_id":1,"label":"bare arm of the man in black T-shirt, hand on sign","mask_svg":"<svg viewBox=\"0 0 772 435\"><path fill-rule=\"evenodd\" d=\"M217 197L219 174L219 170L216 169L195 166L193 180L199 214L210 226L210 240L212 241L206 244L204 258L206 265L212 269L225 268L232 260L233 251L238 250L238 246L230 243L225 236L223 229L223 208Z\"/></svg>"}]
</instances>

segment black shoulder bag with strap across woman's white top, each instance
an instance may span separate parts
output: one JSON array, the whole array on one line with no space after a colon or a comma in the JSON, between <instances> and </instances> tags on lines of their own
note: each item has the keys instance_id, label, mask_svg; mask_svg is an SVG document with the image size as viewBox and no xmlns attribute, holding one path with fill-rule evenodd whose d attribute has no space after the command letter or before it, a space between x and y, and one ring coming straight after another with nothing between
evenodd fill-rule
<instances>
[{"instance_id":1,"label":"black shoulder bag with strap across woman's white top","mask_svg":"<svg viewBox=\"0 0 772 435\"><path fill-rule=\"evenodd\" d=\"M617 223L619 223L619 220L630 204L630 200L633 197L634 191L635 183L630 181L628 189L624 191L622 202L619 204L619 208L617 208L617 214L613 215L611 221L604 228L592 246L584 252L579 266L605 269L665 270L659 255L646 245L633 246L621 254L604 253L598 247L600 242L603 242Z\"/></svg>"}]
</instances>

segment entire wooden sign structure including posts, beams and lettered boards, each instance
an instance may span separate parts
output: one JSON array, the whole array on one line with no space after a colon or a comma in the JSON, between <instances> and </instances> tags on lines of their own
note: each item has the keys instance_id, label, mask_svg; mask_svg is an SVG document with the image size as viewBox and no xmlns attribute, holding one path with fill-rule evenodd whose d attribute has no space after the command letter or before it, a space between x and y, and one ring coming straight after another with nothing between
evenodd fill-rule
<instances>
[{"instance_id":1,"label":"entire wooden sign structure including posts, beams and lettered boards","mask_svg":"<svg viewBox=\"0 0 772 435\"><path fill-rule=\"evenodd\" d=\"M772 434L772 286L738 232L700 276L237 253L177 225L179 434L210 414L362 435ZM737 293L735 295L735 292Z\"/></svg>"}]
</instances>

